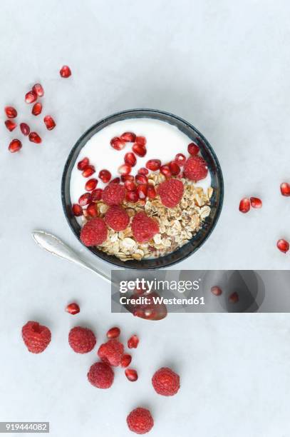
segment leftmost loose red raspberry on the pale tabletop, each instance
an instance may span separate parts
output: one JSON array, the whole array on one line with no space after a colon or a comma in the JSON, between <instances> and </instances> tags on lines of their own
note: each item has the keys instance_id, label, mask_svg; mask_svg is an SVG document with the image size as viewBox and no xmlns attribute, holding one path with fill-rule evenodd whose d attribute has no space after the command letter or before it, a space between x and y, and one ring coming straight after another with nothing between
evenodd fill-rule
<instances>
[{"instance_id":1,"label":"leftmost loose red raspberry on the pale tabletop","mask_svg":"<svg viewBox=\"0 0 290 437\"><path fill-rule=\"evenodd\" d=\"M29 352L41 353L51 342L51 331L36 321L29 321L22 328L22 338Z\"/></svg>"}]
</instances>

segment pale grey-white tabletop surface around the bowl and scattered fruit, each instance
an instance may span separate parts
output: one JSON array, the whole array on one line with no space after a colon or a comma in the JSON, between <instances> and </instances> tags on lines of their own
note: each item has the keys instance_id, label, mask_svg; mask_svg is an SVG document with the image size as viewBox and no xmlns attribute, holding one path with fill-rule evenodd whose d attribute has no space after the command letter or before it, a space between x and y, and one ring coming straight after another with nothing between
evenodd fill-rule
<instances>
[{"instance_id":1,"label":"pale grey-white tabletop surface around the bowl and scattered fruit","mask_svg":"<svg viewBox=\"0 0 290 437\"><path fill-rule=\"evenodd\" d=\"M290 4L286 0L6 1L0 4L1 107L14 104L31 122L24 94L36 81L55 116L37 146L4 128L1 114L1 378L0 419L50 421L51 436L129 436L125 416L149 406L153 436L288 437L288 315L175 314L150 323L110 314L108 285L41 252L33 228L61 236L78 251L63 216L61 172L71 147L91 124L121 109L150 107L182 116L214 147L224 172L225 199L211 238L179 268L289 268L276 250L290 238ZM63 80L58 69L71 66ZM41 126L41 127L40 127ZM242 196L261 196L261 211L244 216ZM86 252L86 256L95 262ZM103 266L108 270L108 266ZM81 314L64 313L78 300ZM45 353L29 354L21 326L51 328ZM86 381L95 352L74 354L71 326L92 326L98 344L121 326L140 335L129 383L120 369L113 388ZM182 376L174 398L150 387L156 368Z\"/></svg>"}]
</instances>

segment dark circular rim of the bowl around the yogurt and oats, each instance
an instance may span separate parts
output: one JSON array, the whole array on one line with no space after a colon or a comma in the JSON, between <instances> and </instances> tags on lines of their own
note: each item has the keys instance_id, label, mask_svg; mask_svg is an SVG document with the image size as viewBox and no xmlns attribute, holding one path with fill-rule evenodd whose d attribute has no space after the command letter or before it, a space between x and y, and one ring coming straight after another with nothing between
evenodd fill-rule
<instances>
[{"instance_id":1,"label":"dark circular rim of the bowl around the yogurt and oats","mask_svg":"<svg viewBox=\"0 0 290 437\"><path fill-rule=\"evenodd\" d=\"M207 146L207 150L209 151L209 154L212 156L212 159L214 160L214 164L217 166L217 173L218 173L218 180L219 180L219 203L217 204L216 214L214 216L214 220L212 221L212 225L210 226L207 233L204 235L204 238L202 239L202 241L200 241L200 243L197 246L192 248L192 251L185 253L180 259L168 261L165 266L155 266L155 265L153 265L153 266L139 266L139 267L138 266L136 266L136 267L129 266L129 265L128 266L126 266L126 265L119 266L117 263L115 263L113 261L113 259L111 260L110 258L109 259L102 258L101 256L98 255L98 253L95 253L89 247L84 246L81 243L79 235L76 232L76 230L73 228L73 225L72 225L71 220L68 217L68 213L67 213L66 194L65 194L66 193L66 176L68 173L68 167L71 164L71 159L73 158L73 155L74 155L76 149L78 148L79 144L81 143L81 141L83 141L83 139L85 139L86 136L89 136L92 131L97 129L98 126L104 124L105 122L109 122L111 120L113 122L113 119L115 119L118 116L123 116L126 114L133 114L134 115L134 114L138 114L140 112L145 113L145 114L147 113L148 116L149 116L149 114L169 116L170 118L175 119L177 121L180 121L182 124L185 124L189 129L192 129L193 131L195 131L195 133L198 136L200 136L200 138L202 139L204 144ZM133 117L131 117L131 118L133 118ZM84 146L85 146L85 144L84 144ZM71 178L69 180L71 180ZM209 236L212 234L212 231L214 230L215 226L217 226L217 221L219 221L219 216L222 212L223 202L224 202L224 178L222 175L222 168L219 164L219 160L217 159L217 155L215 154L214 149L212 149L212 146L209 144L209 141L207 141L207 139L204 137L204 135L197 128L195 128L195 126L193 126L191 123L189 123L185 119L182 119L182 117L176 116L175 114L172 114L171 112L162 111L160 109L148 109L148 108L145 108L145 109L144 108L125 109L123 111L115 112L114 114L111 114L109 116L105 116L105 117L103 117L103 119L100 119L99 121L97 121L95 124L90 126L90 128L88 128L78 138L78 140L74 144L73 148L71 149L70 153L68 154L68 158L66 159L66 164L63 167L63 174L61 177L61 203L63 206L63 212L64 212L64 215L66 217L66 221L68 222L68 226L71 228L71 231L73 231L73 234L76 236L78 241L82 244L82 246L84 246L88 251L90 251L90 253L92 253L94 256L96 256L100 261L104 261L105 263L109 263L111 266L114 266L115 268L130 268L132 270L157 270L160 268L168 268L170 266L174 266L175 264L184 261L189 256L191 256L193 253L195 253L205 243L205 241L207 241L207 238L209 238ZM113 258L113 256L112 256L112 258ZM158 259L158 258L156 258L156 259Z\"/></svg>"}]
</instances>

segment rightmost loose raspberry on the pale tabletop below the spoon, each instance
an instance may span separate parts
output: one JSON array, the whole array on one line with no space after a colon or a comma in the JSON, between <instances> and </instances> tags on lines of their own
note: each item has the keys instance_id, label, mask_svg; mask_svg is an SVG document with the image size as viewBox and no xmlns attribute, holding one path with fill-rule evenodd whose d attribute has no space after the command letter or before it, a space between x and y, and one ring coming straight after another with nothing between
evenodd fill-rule
<instances>
[{"instance_id":1,"label":"rightmost loose raspberry on the pale tabletop below the spoon","mask_svg":"<svg viewBox=\"0 0 290 437\"><path fill-rule=\"evenodd\" d=\"M171 368L162 367L154 373L152 386L162 396L173 396L180 389L180 377Z\"/></svg>"}]
</instances>

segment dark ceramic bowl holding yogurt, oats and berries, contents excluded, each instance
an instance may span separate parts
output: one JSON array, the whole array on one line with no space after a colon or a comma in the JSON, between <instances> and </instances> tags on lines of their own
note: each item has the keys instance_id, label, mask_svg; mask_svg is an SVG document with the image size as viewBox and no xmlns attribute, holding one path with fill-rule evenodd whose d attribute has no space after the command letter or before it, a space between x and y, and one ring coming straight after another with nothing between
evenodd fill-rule
<instances>
[{"instance_id":1,"label":"dark ceramic bowl holding yogurt, oats and berries, contents excluded","mask_svg":"<svg viewBox=\"0 0 290 437\"><path fill-rule=\"evenodd\" d=\"M186 134L190 139L196 141L200 146L200 151L207 165L209 167L209 172L212 177L212 187L214 188L214 194L211 199L211 213L204 221L202 229L188 242L185 246L177 249L176 251L170 253L169 255L162 256L160 258L154 259L144 259L141 261L120 261L119 258L115 256L110 256L97 248L88 248L88 250L94 253L98 258L108 261L108 263L113 264L113 266L123 267L123 268L164 268L172 266L178 263L187 256L197 251L200 246L207 240L209 235L212 233L214 226L217 224L219 214L222 209L222 200L224 195L224 184L222 179L222 170L219 166L219 161L217 161L217 156L215 156L212 147L209 145L208 141L200 134L194 126L187 123L187 121L180 119L173 114L169 114L163 111L155 111L154 109L132 109L129 111L118 112L111 116L106 117L103 120L98 121L94 124L88 131L81 136L81 138L73 146L71 153L68 156L66 165L63 170L63 178L61 181L61 198L63 202L63 210L66 214L66 219L68 220L69 226L76 237L80 238L81 227L76 221L76 217L73 216L71 212L71 196L70 196L70 181L71 181L71 171L78 158L78 154L87 141L98 131L103 129L109 124L115 123L115 121L120 121L124 119L135 119L135 118L150 118L157 119L161 121L167 121L174 126L177 126L180 131Z\"/></svg>"}]
</instances>

